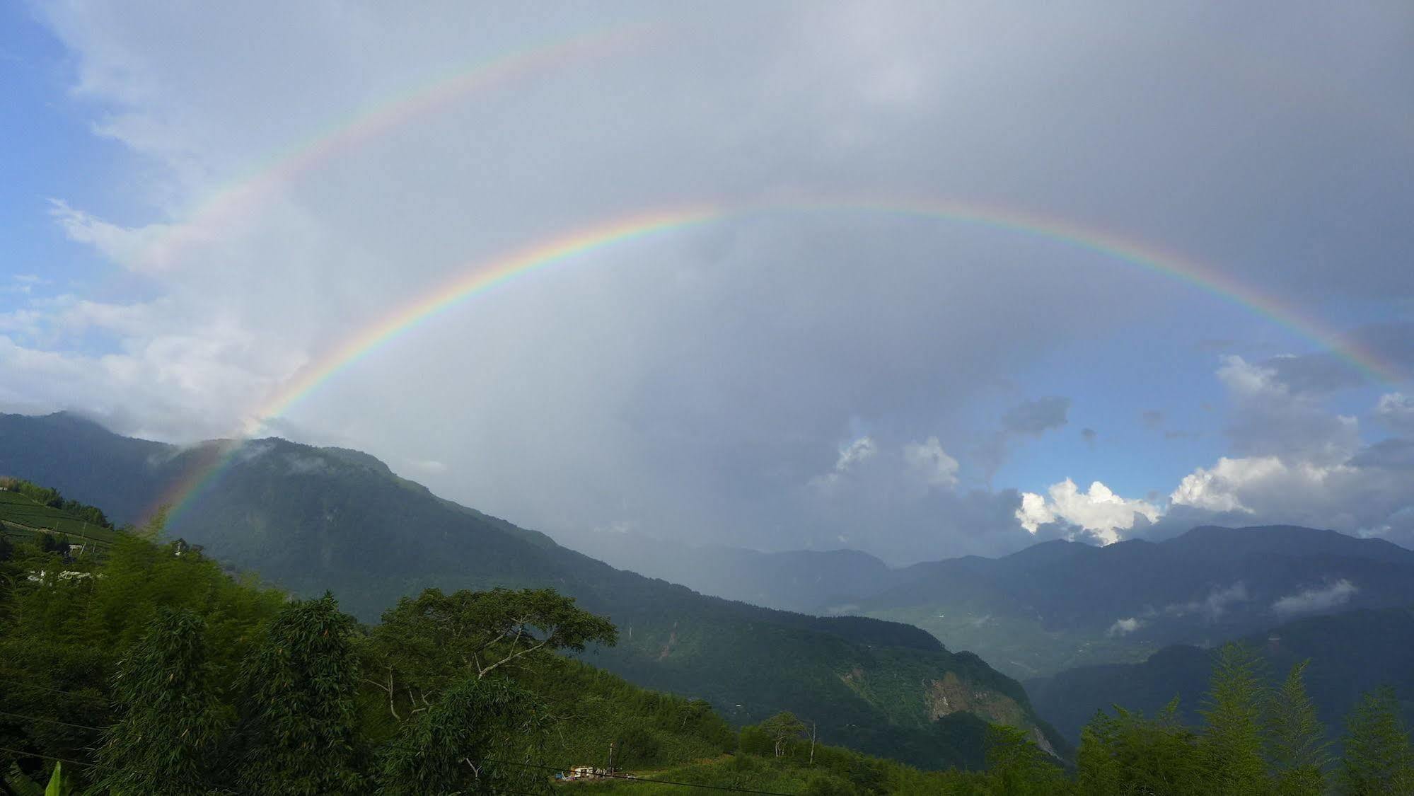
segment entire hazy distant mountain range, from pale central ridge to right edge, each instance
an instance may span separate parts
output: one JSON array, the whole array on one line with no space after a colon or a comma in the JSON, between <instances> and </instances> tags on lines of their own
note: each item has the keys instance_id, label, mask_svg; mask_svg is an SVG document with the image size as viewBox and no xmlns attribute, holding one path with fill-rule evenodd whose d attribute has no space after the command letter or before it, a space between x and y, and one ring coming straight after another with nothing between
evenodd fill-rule
<instances>
[{"instance_id":1,"label":"entire hazy distant mountain range, from pale central ridge to right edge","mask_svg":"<svg viewBox=\"0 0 1414 796\"><path fill-rule=\"evenodd\" d=\"M1414 604L1414 551L1308 527L1196 527L1107 547L1045 542L898 570L848 550L673 550L614 536L584 542L707 594L908 622L1021 679L1138 662L1298 616Z\"/></svg>"}]
</instances>

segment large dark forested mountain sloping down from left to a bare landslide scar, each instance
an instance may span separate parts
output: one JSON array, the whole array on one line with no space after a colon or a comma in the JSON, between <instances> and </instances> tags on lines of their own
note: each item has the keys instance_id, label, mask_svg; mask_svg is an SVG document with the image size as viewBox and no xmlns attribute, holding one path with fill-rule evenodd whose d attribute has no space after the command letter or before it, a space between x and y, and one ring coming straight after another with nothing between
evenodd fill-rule
<instances>
[{"instance_id":1,"label":"large dark forested mountain sloping down from left to a bare landslide scar","mask_svg":"<svg viewBox=\"0 0 1414 796\"><path fill-rule=\"evenodd\" d=\"M792 710L816 720L827 742L947 766L981 762L974 714L1066 754L1015 680L909 625L758 608L615 570L355 451L277 438L177 448L66 414L0 416L0 474L55 486L117 522L215 461L228 464L168 533L298 594L332 590L365 621L428 587L553 587L619 626L619 645L585 660L706 698L734 724Z\"/></svg>"}]
</instances>

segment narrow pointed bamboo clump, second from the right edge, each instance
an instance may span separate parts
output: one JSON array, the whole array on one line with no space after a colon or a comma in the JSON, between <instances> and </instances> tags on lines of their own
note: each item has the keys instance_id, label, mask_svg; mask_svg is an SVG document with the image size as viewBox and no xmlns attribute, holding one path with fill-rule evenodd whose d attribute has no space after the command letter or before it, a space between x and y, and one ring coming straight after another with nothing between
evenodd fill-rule
<instances>
[{"instance_id":1,"label":"narrow pointed bamboo clump, second from the right edge","mask_svg":"<svg viewBox=\"0 0 1414 796\"><path fill-rule=\"evenodd\" d=\"M1302 660L1292 666L1287 680L1267 700L1267 762L1273 793L1278 796L1319 796L1326 789L1325 766L1331 761L1331 744L1307 694L1308 663Z\"/></svg>"}]
</instances>

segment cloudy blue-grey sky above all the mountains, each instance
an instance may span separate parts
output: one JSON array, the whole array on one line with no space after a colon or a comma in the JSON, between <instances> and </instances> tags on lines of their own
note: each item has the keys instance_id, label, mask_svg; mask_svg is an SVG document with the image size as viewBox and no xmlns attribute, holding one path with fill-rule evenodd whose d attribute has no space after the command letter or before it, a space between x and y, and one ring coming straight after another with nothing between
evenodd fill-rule
<instances>
[{"instance_id":1,"label":"cloudy blue-grey sky above all the mountains","mask_svg":"<svg viewBox=\"0 0 1414 796\"><path fill-rule=\"evenodd\" d=\"M1410 74L1404 3L4 4L0 410L571 543L1414 544Z\"/></svg>"}]
</instances>

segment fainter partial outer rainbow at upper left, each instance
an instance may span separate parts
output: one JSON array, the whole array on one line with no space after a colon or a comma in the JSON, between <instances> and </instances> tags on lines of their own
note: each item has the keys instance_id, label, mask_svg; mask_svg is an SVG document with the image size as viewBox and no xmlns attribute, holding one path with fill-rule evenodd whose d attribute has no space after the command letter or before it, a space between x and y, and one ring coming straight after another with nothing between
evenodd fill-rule
<instances>
[{"instance_id":1,"label":"fainter partial outer rainbow at upper left","mask_svg":"<svg viewBox=\"0 0 1414 796\"><path fill-rule=\"evenodd\" d=\"M612 30L581 33L478 61L375 102L368 109L341 117L318 133L263 158L246 177L212 192L188 213L187 221L165 225L153 243L137 254L137 263L150 269L171 267L188 246L216 240L240 219L249 218L281 185L389 130L436 113L467 95L617 52L652 30L656 25L625 24Z\"/></svg>"}]
</instances>

